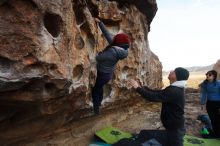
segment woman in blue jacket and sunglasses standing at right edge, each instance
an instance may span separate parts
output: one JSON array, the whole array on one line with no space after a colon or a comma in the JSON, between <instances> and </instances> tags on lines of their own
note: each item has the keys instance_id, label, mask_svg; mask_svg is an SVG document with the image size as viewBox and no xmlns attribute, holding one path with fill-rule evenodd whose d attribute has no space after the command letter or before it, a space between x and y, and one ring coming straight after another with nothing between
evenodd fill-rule
<instances>
[{"instance_id":1,"label":"woman in blue jacket and sunglasses standing at right edge","mask_svg":"<svg viewBox=\"0 0 220 146\"><path fill-rule=\"evenodd\" d=\"M220 81L216 80L217 72L210 70L206 73L206 79L200 84L202 110L206 110L212 123L210 133L213 138L220 138Z\"/></svg>"}]
</instances>

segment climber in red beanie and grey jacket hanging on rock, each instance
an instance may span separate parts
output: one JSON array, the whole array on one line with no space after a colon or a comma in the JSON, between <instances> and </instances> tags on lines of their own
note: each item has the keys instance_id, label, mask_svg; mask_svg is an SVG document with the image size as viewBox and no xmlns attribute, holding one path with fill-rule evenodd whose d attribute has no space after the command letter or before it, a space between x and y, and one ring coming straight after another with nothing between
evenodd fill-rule
<instances>
[{"instance_id":1,"label":"climber in red beanie and grey jacket hanging on rock","mask_svg":"<svg viewBox=\"0 0 220 146\"><path fill-rule=\"evenodd\" d=\"M131 39L126 33L119 33L112 38L105 25L98 18L95 18L95 21L109 43L96 56L97 78L95 86L92 88L92 100L94 113L99 114L99 107L103 99L103 86L112 79L117 62L128 56Z\"/></svg>"}]
</instances>

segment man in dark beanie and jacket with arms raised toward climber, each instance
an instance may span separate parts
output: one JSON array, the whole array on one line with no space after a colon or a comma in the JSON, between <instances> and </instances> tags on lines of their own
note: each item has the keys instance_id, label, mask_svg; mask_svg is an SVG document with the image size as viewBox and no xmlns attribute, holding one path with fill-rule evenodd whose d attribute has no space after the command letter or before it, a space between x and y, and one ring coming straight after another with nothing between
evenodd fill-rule
<instances>
[{"instance_id":1,"label":"man in dark beanie and jacket with arms raised toward climber","mask_svg":"<svg viewBox=\"0 0 220 146\"><path fill-rule=\"evenodd\" d=\"M170 85L162 90L152 90L146 86L142 87L135 80L129 81L143 98L151 102L162 102L160 118L165 130L142 130L139 134L140 140L143 139L144 142L155 138L163 146L183 146L185 87L188 78L189 71L178 67L170 72Z\"/></svg>"}]
</instances>

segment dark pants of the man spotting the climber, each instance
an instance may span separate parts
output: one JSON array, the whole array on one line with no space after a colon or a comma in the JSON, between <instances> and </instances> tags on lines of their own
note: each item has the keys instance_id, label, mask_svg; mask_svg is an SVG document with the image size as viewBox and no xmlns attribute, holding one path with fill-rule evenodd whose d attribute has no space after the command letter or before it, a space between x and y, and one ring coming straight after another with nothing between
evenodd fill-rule
<instances>
[{"instance_id":1,"label":"dark pants of the man spotting the climber","mask_svg":"<svg viewBox=\"0 0 220 146\"><path fill-rule=\"evenodd\" d=\"M183 146L185 132L184 128L175 130L142 130L138 139L145 142L155 138L163 146Z\"/></svg>"}]
</instances>

